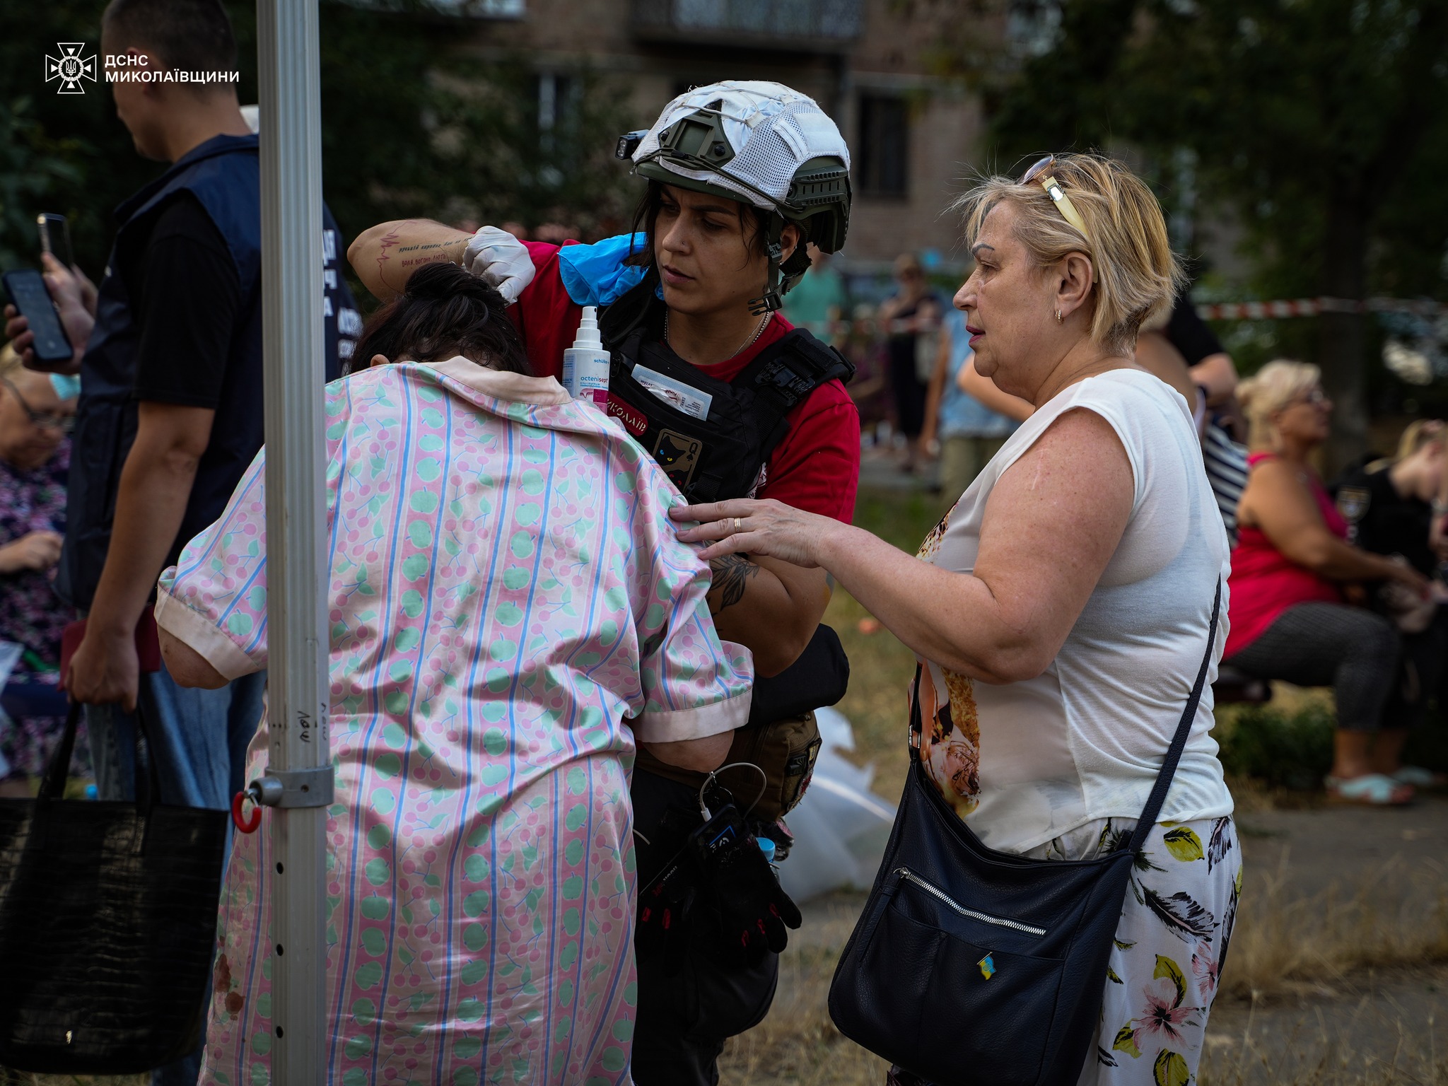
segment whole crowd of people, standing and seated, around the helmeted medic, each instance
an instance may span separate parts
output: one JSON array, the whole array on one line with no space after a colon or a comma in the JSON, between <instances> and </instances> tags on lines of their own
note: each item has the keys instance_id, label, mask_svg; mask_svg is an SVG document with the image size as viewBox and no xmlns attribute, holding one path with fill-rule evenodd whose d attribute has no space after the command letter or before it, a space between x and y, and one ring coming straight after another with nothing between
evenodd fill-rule
<instances>
[{"instance_id":1,"label":"whole crowd of people, standing and seated, around the helmeted medic","mask_svg":"<svg viewBox=\"0 0 1448 1086\"><path fill-rule=\"evenodd\" d=\"M235 65L216 0L111 0L101 41ZM268 749L258 140L229 84L113 93L167 169L98 287L45 258L62 372L6 313L0 796L80 704L101 798L143 757L226 808ZM1325 485L1319 372L1238 381L1121 162L980 181L954 297L902 256L851 314L850 151L812 100L725 81L627 139L628 235L374 226L365 324L326 220L330 1076L717 1083L801 924L773 864L844 691L840 586L915 653L912 757L1001 853L1118 850L1187 712L1083 1082L1190 1079L1241 885L1199 662L1331 686L1335 798L1439 783L1402 752L1444 682L1448 427ZM557 379L585 307L607 405ZM915 555L851 526L879 391L901 468L940 459ZM158 1083L268 1080L268 849L235 835L204 1043Z\"/></svg>"}]
</instances>

